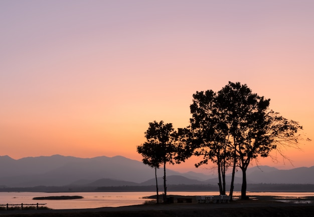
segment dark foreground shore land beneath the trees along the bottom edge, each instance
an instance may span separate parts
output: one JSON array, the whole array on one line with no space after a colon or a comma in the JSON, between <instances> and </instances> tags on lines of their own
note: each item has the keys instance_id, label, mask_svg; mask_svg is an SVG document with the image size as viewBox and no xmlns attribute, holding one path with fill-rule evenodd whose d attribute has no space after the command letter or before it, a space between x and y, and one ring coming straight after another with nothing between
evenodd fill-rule
<instances>
[{"instance_id":1,"label":"dark foreground shore land beneath the trees along the bottom edge","mask_svg":"<svg viewBox=\"0 0 314 217\"><path fill-rule=\"evenodd\" d=\"M286 203L273 200L236 200L230 203L142 204L93 209L51 209L1 211L0 216L60 217L314 217L314 203Z\"/></svg>"}]
</instances>

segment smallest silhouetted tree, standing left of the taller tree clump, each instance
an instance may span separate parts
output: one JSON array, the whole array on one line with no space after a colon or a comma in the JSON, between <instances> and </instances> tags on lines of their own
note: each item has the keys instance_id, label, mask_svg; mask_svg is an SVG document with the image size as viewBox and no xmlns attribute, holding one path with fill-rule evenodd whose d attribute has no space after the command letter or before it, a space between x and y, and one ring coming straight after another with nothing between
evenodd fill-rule
<instances>
[{"instance_id":1,"label":"smallest silhouetted tree, standing left of the taller tree clump","mask_svg":"<svg viewBox=\"0 0 314 217\"><path fill-rule=\"evenodd\" d=\"M146 143L137 147L138 153L144 153L146 159L143 162L154 168L159 168L160 164L164 165L164 202L167 201L167 185L166 185L166 164L174 164L178 149L176 146L176 131L172 123L150 122L145 132ZM142 152L142 153L141 153Z\"/></svg>"}]
</instances>

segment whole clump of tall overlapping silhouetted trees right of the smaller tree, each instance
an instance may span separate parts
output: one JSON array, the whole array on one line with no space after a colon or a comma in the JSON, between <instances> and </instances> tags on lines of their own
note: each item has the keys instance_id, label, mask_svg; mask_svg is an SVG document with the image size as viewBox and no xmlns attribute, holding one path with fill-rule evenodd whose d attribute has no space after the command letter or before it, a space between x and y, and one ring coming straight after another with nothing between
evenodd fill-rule
<instances>
[{"instance_id":1,"label":"whole clump of tall overlapping silhouetted trees right of the smaller tree","mask_svg":"<svg viewBox=\"0 0 314 217\"><path fill-rule=\"evenodd\" d=\"M302 127L269 110L270 99L252 93L247 85L229 82L218 93L197 92L193 98L190 127L197 142L191 143L192 149L204 156L199 164L215 162L222 178L233 165L231 195L236 166L242 170L241 198L246 199L246 170L251 160L267 157L273 149L282 154L282 146L297 145ZM223 182L219 180L221 193Z\"/></svg>"}]
</instances>

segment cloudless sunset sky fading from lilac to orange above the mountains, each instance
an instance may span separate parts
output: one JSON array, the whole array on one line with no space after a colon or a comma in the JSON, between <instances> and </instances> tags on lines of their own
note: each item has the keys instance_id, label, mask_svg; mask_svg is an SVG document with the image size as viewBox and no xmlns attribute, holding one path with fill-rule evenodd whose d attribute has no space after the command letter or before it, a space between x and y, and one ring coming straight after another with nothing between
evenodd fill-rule
<instances>
[{"instance_id":1,"label":"cloudless sunset sky fading from lilac to orange above the mountains","mask_svg":"<svg viewBox=\"0 0 314 217\"><path fill-rule=\"evenodd\" d=\"M285 150L292 164L259 165L313 166L313 9L311 0L0 1L0 155L141 160L149 122L186 127L193 94L231 81L312 139ZM195 169L198 160L169 168L211 167Z\"/></svg>"}]
</instances>

